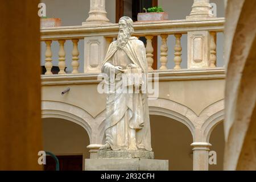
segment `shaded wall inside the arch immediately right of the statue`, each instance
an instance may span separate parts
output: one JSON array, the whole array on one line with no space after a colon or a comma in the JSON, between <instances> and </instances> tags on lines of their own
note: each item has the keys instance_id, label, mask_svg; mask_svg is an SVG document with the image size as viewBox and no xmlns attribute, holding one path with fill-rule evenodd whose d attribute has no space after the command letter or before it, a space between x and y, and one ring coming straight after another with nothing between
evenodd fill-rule
<instances>
[{"instance_id":1,"label":"shaded wall inside the arch immediately right of the statue","mask_svg":"<svg viewBox=\"0 0 256 182\"><path fill-rule=\"evenodd\" d=\"M155 159L169 160L169 170L193 170L193 138L189 129L174 119L150 115Z\"/></svg>"}]
</instances>

